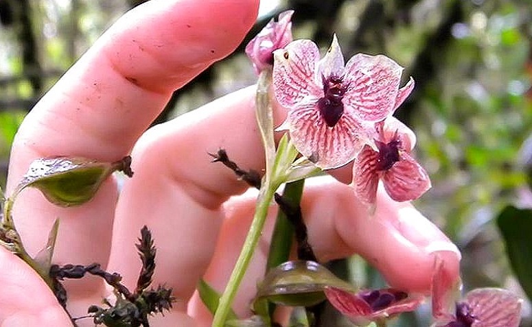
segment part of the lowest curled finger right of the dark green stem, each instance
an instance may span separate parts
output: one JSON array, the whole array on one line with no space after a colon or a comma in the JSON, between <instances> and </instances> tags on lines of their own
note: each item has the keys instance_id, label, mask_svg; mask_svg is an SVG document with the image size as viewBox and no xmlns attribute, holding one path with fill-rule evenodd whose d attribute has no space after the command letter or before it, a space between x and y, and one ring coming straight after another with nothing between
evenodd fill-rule
<instances>
[{"instance_id":1,"label":"part of the lowest curled finger right of the dark green stem","mask_svg":"<svg viewBox=\"0 0 532 327\"><path fill-rule=\"evenodd\" d=\"M302 201L309 239L321 260L355 252L393 287L428 294L438 254L450 278L459 278L456 245L410 202L393 201L382 186L373 216L352 186L330 180L310 185Z\"/></svg>"}]
</instances>

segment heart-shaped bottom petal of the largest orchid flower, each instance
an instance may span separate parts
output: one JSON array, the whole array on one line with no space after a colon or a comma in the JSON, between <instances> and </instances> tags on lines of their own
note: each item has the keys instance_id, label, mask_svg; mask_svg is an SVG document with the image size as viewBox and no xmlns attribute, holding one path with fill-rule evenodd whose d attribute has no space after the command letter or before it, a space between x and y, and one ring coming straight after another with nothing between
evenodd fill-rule
<instances>
[{"instance_id":1,"label":"heart-shaped bottom petal of the largest orchid flower","mask_svg":"<svg viewBox=\"0 0 532 327\"><path fill-rule=\"evenodd\" d=\"M358 121L344 116L334 128L329 128L316 104L300 104L299 108L288 112L281 126L288 127L296 149L322 169L346 165L354 160L365 143Z\"/></svg>"}]
</instances>

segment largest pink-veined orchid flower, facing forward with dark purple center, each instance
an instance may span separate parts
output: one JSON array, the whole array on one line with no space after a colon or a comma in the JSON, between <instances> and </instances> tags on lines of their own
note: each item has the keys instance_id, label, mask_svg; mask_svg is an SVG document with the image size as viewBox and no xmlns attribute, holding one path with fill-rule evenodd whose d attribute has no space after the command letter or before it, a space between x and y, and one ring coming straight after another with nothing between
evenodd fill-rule
<instances>
[{"instance_id":1,"label":"largest pink-veined orchid flower, facing forward with dark purple center","mask_svg":"<svg viewBox=\"0 0 532 327\"><path fill-rule=\"evenodd\" d=\"M296 149L322 169L354 160L367 130L402 104L413 90L399 88L403 68L386 56L358 53L344 65L334 36L320 60L311 40L295 40L274 52L273 90L288 109L278 130L288 130Z\"/></svg>"}]
</instances>

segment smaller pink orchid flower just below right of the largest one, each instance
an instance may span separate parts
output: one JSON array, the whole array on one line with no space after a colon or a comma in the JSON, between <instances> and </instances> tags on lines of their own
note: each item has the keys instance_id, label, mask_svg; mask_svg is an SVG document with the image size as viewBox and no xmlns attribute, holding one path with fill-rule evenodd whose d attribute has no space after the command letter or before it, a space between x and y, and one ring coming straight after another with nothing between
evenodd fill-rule
<instances>
[{"instance_id":1,"label":"smaller pink orchid flower just below right of the largest one","mask_svg":"<svg viewBox=\"0 0 532 327\"><path fill-rule=\"evenodd\" d=\"M366 144L356 158L353 178L356 194L367 204L375 204L379 180L395 201L417 199L430 189L427 172L410 152L415 144L413 132L389 117L375 124L376 149Z\"/></svg>"}]
</instances>

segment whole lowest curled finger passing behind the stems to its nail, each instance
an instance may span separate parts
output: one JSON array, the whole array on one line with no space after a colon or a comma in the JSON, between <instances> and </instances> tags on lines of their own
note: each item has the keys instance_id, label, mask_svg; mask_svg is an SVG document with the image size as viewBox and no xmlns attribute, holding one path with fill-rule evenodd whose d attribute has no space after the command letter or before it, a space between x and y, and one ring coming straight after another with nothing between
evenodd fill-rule
<instances>
[{"instance_id":1,"label":"whole lowest curled finger passing behind the stems to its nail","mask_svg":"<svg viewBox=\"0 0 532 327\"><path fill-rule=\"evenodd\" d=\"M246 236L255 210L256 193L233 197L225 204L224 220L216 252L205 279L223 291ZM456 246L435 225L410 204L393 202L380 192L373 217L361 204L350 186L332 178L307 180L301 202L303 219L308 227L310 245L321 262L360 254L379 269L392 287L424 293L431 289L435 273L435 255L446 261L448 274L459 278L460 260ZM268 214L273 225L277 206ZM241 316L249 311L257 283L264 278L271 228L266 228L233 308ZM189 311L199 322L208 326L211 315L197 294Z\"/></svg>"}]
</instances>

